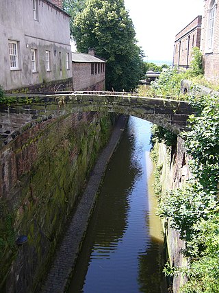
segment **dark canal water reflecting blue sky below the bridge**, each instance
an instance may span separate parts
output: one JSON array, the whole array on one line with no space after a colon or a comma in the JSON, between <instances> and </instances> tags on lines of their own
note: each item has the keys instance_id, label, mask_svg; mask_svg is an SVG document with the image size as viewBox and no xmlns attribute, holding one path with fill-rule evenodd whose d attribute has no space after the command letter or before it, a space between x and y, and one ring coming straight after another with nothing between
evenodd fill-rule
<instances>
[{"instance_id":1,"label":"dark canal water reflecting blue sky below the bridge","mask_svg":"<svg viewBox=\"0 0 219 293\"><path fill-rule=\"evenodd\" d=\"M151 124L130 117L107 167L68 293L166 293L150 137Z\"/></svg>"}]
</instances>

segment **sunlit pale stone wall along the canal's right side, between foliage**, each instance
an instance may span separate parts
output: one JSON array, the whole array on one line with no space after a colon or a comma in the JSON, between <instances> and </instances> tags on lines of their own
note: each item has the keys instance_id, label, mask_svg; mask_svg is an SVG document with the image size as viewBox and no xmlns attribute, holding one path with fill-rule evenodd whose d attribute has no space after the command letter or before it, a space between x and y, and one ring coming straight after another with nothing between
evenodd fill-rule
<instances>
[{"instance_id":1,"label":"sunlit pale stone wall along the canal's right side, between foliage","mask_svg":"<svg viewBox=\"0 0 219 293\"><path fill-rule=\"evenodd\" d=\"M162 185L162 196L165 197L166 191L180 188L185 180L190 176L188 167L188 155L185 152L183 139L177 139L177 150L171 154L171 149L164 143L159 143L157 165L161 167L160 183ZM168 249L168 257L172 266L186 266L187 261L183 257L181 250L185 248L185 243L179 239L179 232L170 228L170 219L163 220L163 230ZM185 277L179 274L173 279L173 292L179 292L179 287L186 281Z\"/></svg>"}]
</instances>

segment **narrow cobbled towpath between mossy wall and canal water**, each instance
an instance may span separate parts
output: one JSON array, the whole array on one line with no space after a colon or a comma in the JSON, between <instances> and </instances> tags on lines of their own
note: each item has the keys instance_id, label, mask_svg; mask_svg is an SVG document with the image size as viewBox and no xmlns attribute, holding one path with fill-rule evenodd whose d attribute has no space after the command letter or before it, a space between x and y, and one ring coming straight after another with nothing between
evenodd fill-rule
<instances>
[{"instance_id":1,"label":"narrow cobbled towpath between mossy wall and canal water","mask_svg":"<svg viewBox=\"0 0 219 293\"><path fill-rule=\"evenodd\" d=\"M73 218L71 218L68 228L64 233L62 243L55 253L47 279L40 290L41 293L65 292L79 255L81 242L88 228L90 215L94 209L96 195L105 174L107 163L110 161L122 137L127 121L128 116L120 115L120 117L118 117L110 140L96 161L94 169L90 174L88 184L77 204L77 209L75 209Z\"/></svg>"}]
</instances>

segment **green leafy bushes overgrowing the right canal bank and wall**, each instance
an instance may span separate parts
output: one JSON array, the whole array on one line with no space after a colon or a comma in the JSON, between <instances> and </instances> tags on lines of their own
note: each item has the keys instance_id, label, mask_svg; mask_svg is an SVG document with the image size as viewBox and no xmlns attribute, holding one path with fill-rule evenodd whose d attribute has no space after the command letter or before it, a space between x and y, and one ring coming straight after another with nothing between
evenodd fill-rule
<instances>
[{"instance_id":1,"label":"green leafy bushes overgrowing the right canal bank and wall","mask_svg":"<svg viewBox=\"0 0 219 293\"><path fill-rule=\"evenodd\" d=\"M188 282L180 292L212 293L219 292L219 98L199 94L198 83L206 81L201 75L202 56L196 48L191 67L181 73L177 69L162 73L149 89L151 96L188 99L196 108L196 116L191 115L189 119L190 131L183 134L187 153L192 158L192 176L182 189L167 192L159 201L159 215L169 218L172 228L177 229L181 239L185 240L183 253L188 257L188 267L167 264L164 272L171 276L186 274ZM192 94L181 94L183 79L194 82ZM155 126L152 131L152 143L164 141L167 145L172 144L166 130ZM159 194L162 190L157 184L160 174L158 166L155 188Z\"/></svg>"}]
</instances>

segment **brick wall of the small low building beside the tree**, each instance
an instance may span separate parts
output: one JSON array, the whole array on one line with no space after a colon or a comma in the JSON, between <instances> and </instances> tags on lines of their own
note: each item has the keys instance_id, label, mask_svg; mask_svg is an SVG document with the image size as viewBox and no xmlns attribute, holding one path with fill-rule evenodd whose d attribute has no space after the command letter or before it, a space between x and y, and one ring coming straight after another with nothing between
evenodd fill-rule
<instances>
[{"instance_id":1,"label":"brick wall of the small low building beside the tree","mask_svg":"<svg viewBox=\"0 0 219 293\"><path fill-rule=\"evenodd\" d=\"M94 68L94 74L91 74L91 63L73 62L74 91L104 91L105 63L102 63L103 68L102 72L97 70L97 73Z\"/></svg>"}]
</instances>

